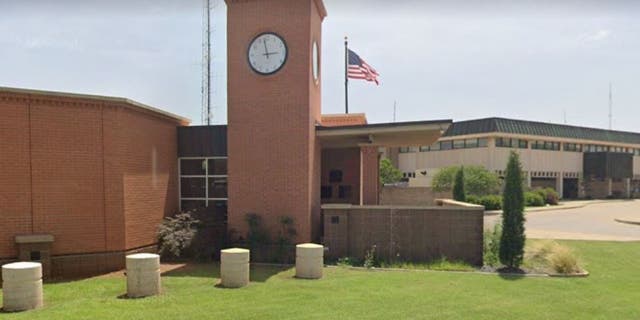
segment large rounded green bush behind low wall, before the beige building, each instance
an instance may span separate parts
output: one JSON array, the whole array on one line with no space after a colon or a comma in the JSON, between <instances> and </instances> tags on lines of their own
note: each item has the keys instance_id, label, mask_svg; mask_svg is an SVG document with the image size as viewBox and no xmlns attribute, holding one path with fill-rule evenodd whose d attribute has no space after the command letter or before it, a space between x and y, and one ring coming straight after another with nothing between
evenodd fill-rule
<instances>
[{"instance_id":1,"label":"large rounded green bush behind low wall, before the beige building","mask_svg":"<svg viewBox=\"0 0 640 320\"><path fill-rule=\"evenodd\" d=\"M431 187L436 192L453 190L456 174L460 167L446 167L438 171L433 177ZM482 166L464 167L464 190L466 195L485 196L499 194L500 178L497 174Z\"/></svg>"}]
</instances>

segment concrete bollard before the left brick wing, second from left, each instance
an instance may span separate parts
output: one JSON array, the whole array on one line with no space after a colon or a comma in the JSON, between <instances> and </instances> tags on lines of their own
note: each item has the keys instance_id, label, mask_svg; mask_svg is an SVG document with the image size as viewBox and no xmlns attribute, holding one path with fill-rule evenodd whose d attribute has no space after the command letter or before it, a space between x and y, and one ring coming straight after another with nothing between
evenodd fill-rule
<instances>
[{"instance_id":1,"label":"concrete bollard before the left brick wing, second from left","mask_svg":"<svg viewBox=\"0 0 640 320\"><path fill-rule=\"evenodd\" d=\"M160 256L138 253L127 256L127 297L142 298L160 293Z\"/></svg>"}]
</instances>

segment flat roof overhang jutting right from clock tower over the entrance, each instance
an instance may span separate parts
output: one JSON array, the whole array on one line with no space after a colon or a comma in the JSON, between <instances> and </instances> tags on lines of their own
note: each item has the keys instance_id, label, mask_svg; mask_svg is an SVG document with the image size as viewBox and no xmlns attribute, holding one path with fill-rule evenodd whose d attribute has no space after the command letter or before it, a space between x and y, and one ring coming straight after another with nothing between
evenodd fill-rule
<instances>
[{"instance_id":1,"label":"flat roof overhang jutting right from clock tower over the entrance","mask_svg":"<svg viewBox=\"0 0 640 320\"><path fill-rule=\"evenodd\" d=\"M323 147L428 146L449 128L452 120L377 123L346 127L316 127Z\"/></svg>"}]
</instances>

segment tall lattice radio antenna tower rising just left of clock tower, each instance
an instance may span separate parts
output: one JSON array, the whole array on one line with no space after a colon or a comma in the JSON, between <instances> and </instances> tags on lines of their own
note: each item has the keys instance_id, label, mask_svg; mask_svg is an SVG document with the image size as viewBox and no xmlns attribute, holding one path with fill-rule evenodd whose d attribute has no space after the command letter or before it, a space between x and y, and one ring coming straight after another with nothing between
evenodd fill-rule
<instances>
[{"instance_id":1,"label":"tall lattice radio antenna tower rising just left of clock tower","mask_svg":"<svg viewBox=\"0 0 640 320\"><path fill-rule=\"evenodd\" d=\"M211 125L211 0L203 0L202 124Z\"/></svg>"}]
</instances>

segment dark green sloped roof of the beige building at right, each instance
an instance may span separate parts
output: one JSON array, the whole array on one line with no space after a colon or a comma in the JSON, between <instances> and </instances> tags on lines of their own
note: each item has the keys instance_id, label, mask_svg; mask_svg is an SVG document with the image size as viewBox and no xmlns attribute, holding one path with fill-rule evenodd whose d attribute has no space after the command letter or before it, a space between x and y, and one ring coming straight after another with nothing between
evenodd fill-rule
<instances>
[{"instance_id":1,"label":"dark green sloped roof of the beige building at right","mask_svg":"<svg viewBox=\"0 0 640 320\"><path fill-rule=\"evenodd\" d=\"M505 118L486 118L454 122L444 136L454 137L493 132L640 144L640 133L635 132L613 131Z\"/></svg>"}]
</instances>

